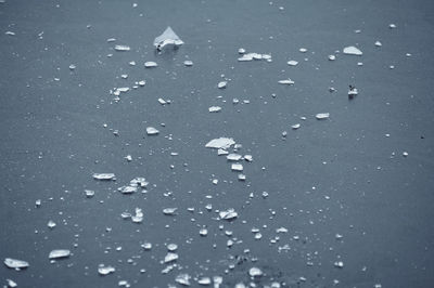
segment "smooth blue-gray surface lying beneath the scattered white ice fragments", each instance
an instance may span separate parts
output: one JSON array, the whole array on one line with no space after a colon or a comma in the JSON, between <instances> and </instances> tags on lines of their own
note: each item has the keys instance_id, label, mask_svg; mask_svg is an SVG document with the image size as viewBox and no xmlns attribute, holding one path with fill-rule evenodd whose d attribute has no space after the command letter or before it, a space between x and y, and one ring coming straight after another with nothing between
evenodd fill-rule
<instances>
[{"instance_id":1,"label":"smooth blue-gray surface lying beneath the scattered white ice fragments","mask_svg":"<svg viewBox=\"0 0 434 288\"><path fill-rule=\"evenodd\" d=\"M390 29L391 23L397 28ZM186 44L157 55L152 41L168 25ZM133 9L131 1L8 0L0 3L0 258L30 262L21 272L0 267L2 283L116 287L126 279L132 287L167 287L181 271L221 275L224 287L233 287L248 284L247 270L258 266L266 272L259 286L276 279L290 287L331 287L337 279L339 287L432 287L432 1L143 1ZM131 51L115 52L115 43L106 42L112 37ZM382 48L374 47L376 40ZM361 57L337 54L328 61L355 44ZM239 63L240 47L271 53L273 61ZM302 47L306 54L298 52ZM193 67L182 65L187 57ZM288 66L289 60L298 66ZM145 69L145 61L159 66ZM77 68L71 71L73 63ZM226 90L216 88L221 74L231 79ZM277 83L288 77L294 87ZM113 103L110 89L141 79L144 88ZM353 101L348 84L360 92ZM329 87L337 91L329 93ZM173 103L162 106L158 97ZM233 97L251 104L233 105ZM213 105L222 112L209 114ZM315 119L322 112L331 114L329 120ZM302 128L292 131L296 122ZM146 136L146 126L161 134ZM244 163L245 183L204 147L224 135L254 157ZM124 159L127 154L133 161ZM114 172L117 181L95 182L92 172ZM130 196L116 191L135 176L154 186ZM210 182L215 178L218 185ZM95 196L87 199L85 188ZM233 207L240 217L213 220L217 214L206 211L207 202L213 209ZM143 208L142 224L120 219L136 207ZM179 212L165 217L165 207ZM52 231L49 220L58 223ZM228 249L220 224L243 243ZM202 225L207 237L199 236ZM260 240L251 233L254 226ZM281 226L289 233L270 244ZM152 251L142 251L144 240L153 243ZM180 259L163 275L167 243L179 245ZM279 252L284 244L292 250ZM118 246L122 251L115 251ZM50 264L49 252L59 248L74 254ZM225 273L229 256L246 261ZM340 258L343 269L333 266ZM116 272L99 276L100 263ZM298 283L301 276L307 280Z\"/></svg>"}]
</instances>

